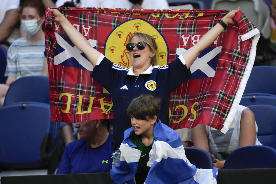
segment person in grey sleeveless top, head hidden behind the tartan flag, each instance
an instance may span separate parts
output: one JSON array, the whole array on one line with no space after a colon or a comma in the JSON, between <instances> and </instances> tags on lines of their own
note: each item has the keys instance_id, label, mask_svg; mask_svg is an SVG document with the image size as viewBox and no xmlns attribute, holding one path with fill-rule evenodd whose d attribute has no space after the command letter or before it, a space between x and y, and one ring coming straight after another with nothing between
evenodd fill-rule
<instances>
[{"instance_id":1,"label":"person in grey sleeveless top, head hidden behind the tartan flag","mask_svg":"<svg viewBox=\"0 0 276 184\"><path fill-rule=\"evenodd\" d=\"M227 156L242 146L262 145L253 112L239 105L226 134L204 124L193 128L194 147L210 152L216 168L222 169Z\"/></svg>"}]
</instances>

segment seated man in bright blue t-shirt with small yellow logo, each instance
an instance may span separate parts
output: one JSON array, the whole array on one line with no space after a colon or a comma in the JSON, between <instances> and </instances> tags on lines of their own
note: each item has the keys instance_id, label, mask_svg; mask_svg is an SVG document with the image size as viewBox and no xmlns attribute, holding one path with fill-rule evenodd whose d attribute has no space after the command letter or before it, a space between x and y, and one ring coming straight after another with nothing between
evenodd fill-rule
<instances>
[{"instance_id":1,"label":"seated man in bright blue t-shirt with small yellow logo","mask_svg":"<svg viewBox=\"0 0 276 184\"><path fill-rule=\"evenodd\" d=\"M57 174L110 172L114 151L109 126L109 120L76 122L80 139L66 146Z\"/></svg>"}]
</instances>

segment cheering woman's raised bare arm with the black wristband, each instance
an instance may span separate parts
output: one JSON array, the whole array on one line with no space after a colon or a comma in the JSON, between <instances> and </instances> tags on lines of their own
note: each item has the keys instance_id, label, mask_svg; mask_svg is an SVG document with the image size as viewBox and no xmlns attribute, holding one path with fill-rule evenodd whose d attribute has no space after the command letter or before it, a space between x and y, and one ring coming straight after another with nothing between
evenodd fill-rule
<instances>
[{"instance_id":1,"label":"cheering woman's raised bare arm with the black wristband","mask_svg":"<svg viewBox=\"0 0 276 184\"><path fill-rule=\"evenodd\" d=\"M240 10L238 7L236 10L230 11L228 14L226 14L221 20L226 24L234 24L233 17L235 14ZM193 64L193 62L196 60L196 58L200 55L200 53L209 47L223 32L224 28L220 24L216 24L212 29L210 29L204 36L194 45L193 47L189 48L187 51L182 53L182 56L186 62L187 68L190 68L190 66Z\"/></svg>"}]
</instances>

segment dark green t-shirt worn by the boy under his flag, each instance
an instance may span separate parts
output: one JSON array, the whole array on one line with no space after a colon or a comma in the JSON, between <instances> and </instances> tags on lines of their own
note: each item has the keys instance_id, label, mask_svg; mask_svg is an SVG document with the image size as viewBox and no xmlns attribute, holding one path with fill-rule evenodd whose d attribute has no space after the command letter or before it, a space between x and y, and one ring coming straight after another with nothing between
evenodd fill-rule
<instances>
[{"instance_id":1,"label":"dark green t-shirt worn by the boy under his flag","mask_svg":"<svg viewBox=\"0 0 276 184\"><path fill-rule=\"evenodd\" d=\"M150 150L152 149L152 143L153 143L154 139L153 139L151 145L145 146L142 143L141 135L136 135L135 133L133 133L129 138L130 138L131 142L137 146L136 149L142 151L140 160L139 160L140 168L145 170L146 172L149 172L150 167L147 166L147 161L149 161L149 159L150 159L149 155L150 155Z\"/></svg>"}]
</instances>

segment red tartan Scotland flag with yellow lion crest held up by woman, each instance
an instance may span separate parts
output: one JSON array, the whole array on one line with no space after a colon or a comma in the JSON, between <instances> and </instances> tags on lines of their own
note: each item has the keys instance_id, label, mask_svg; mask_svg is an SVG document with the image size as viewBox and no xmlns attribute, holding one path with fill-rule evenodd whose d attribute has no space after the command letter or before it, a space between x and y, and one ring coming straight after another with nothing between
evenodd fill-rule
<instances>
[{"instance_id":1,"label":"red tartan Scotland flag with yellow lion crest held up by woman","mask_svg":"<svg viewBox=\"0 0 276 184\"><path fill-rule=\"evenodd\" d=\"M210 30L226 10L58 8L112 62L131 67L125 45L141 31L157 42L158 65L166 65ZM52 121L112 118L112 99L90 77L93 66L46 10L45 42ZM170 127L207 124L223 133L235 114L251 72L259 31L240 11L191 66L191 78L170 93Z\"/></svg>"}]
</instances>

